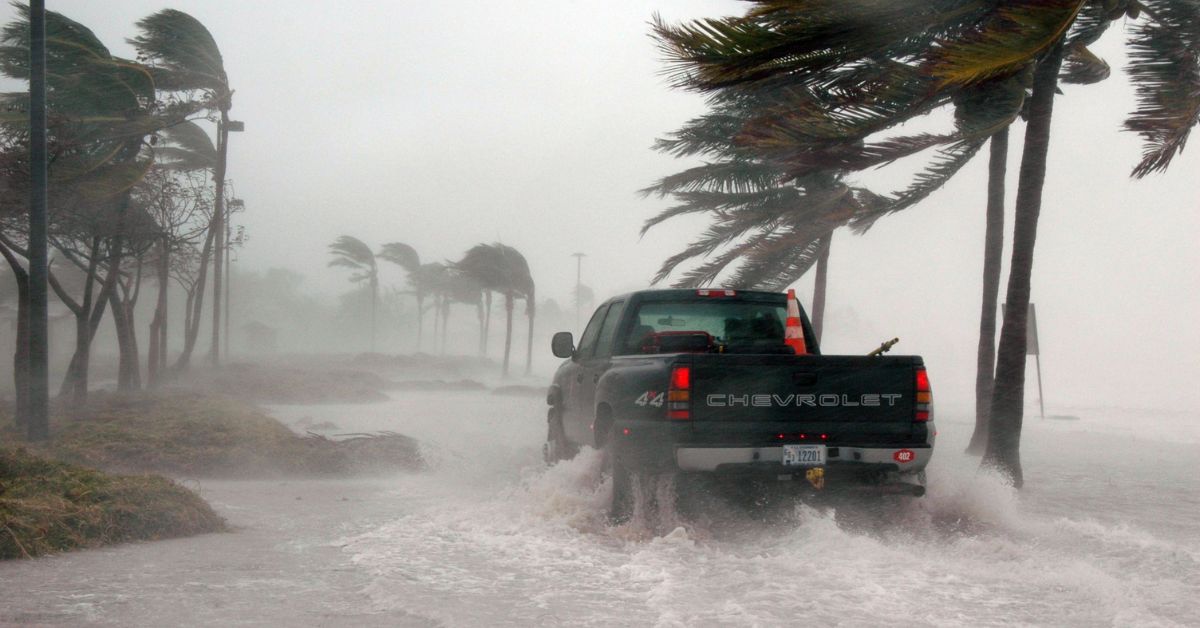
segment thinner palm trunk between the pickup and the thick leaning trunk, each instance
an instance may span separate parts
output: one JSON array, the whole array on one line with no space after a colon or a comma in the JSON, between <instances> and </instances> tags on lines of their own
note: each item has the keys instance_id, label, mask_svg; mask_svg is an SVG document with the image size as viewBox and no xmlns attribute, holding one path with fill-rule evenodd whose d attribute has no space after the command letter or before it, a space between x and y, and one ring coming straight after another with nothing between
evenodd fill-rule
<instances>
[{"instance_id":1,"label":"thinner palm trunk between the pickup and the thick leaning trunk","mask_svg":"<svg viewBox=\"0 0 1200 628\"><path fill-rule=\"evenodd\" d=\"M1008 171L1008 127L991 136L988 161L988 215L983 241L983 304L979 307L979 349L976 359L976 429L967 453L983 454L991 415L991 388L996 376L996 299L1000 262L1004 251L1004 177Z\"/></svg>"}]
</instances>

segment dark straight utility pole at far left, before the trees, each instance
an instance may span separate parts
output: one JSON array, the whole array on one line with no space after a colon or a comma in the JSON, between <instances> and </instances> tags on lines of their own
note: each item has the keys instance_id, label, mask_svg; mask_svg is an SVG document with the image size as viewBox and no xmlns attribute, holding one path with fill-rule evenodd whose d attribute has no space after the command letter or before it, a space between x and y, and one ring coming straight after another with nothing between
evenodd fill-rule
<instances>
[{"instance_id":1,"label":"dark straight utility pole at far left, before the trees","mask_svg":"<svg viewBox=\"0 0 1200 628\"><path fill-rule=\"evenodd\" d=\"M29 432L50 437L46 318L46 0L29 2Z\"/></svg>"}]
</instances>

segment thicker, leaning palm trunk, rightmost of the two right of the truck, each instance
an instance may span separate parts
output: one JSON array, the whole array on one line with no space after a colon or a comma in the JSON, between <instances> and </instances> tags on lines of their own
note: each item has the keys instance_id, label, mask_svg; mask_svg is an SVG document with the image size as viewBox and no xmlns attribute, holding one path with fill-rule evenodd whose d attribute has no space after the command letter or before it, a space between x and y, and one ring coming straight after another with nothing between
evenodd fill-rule
<instances>
[{"instance_id":1,"label":"thicker, leaning palm trunk, rightmost of the two right of the truck","mask_svg":"<svg viewBox=\"0 0 1200 628\"><path fill-rule=\"evenodd\" d=\"M1042 211L1042 187L1045 184L1046 152L1050 146L1050 119L1062 65L1062 42L1051 48L1033 73L1033 95L1025 127L1020 181L1016 185L1016 219L1013 227L1013 258L1004 295L1004 324L1000 333L996 381L988 423L988 448L983 465L998 469L1020 488L1021 420L1025 413L1026 324L1030 311L1030 283L1033 274L1033 245Z\"/></svg>"}]
</instances>

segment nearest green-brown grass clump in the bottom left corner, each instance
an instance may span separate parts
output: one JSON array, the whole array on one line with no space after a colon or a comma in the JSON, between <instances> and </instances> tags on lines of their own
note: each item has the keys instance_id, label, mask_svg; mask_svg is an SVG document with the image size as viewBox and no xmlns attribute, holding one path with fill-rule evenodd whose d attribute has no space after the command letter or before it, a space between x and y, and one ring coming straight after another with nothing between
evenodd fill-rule
<instances>
[{"instance_id":1,"label":"nearest green-brown grass clump in the bottom left corner","mask_svg":"<svg viewBox=\"0 0 1200 628\"><path fill-rule=\"evenodd\" d=\"M157 476L110 476L0 448L0 558L226 528L194 492Z\"/></svg>"}]
</instances>

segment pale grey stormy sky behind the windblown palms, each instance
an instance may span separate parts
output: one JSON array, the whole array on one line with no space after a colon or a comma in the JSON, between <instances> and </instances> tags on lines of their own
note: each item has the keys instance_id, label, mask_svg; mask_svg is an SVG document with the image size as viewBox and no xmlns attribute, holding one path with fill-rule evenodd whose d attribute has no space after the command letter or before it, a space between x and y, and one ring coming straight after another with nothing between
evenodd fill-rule
<instances>
[{"instance_id":1,"label":"pale grey stormy sky behind the windblown palms","mask_svg":"<svg viewBox=\"0 0 1200 628\"><path fill-rule=\"evenodd\" d=\"M647 22L654 12L679 20L744 8L718 0L48 4L124 55L134 22L167 6L212 31L238 90L233 116L246 122L229 166L251 238L240 263L299 270L332 295L347 285L325 268L325 246L342 233L409 243L422 261L499 240L526 253L539 292L559 301L575 281L570 253L588 253L584 282L607 297L644 286L703 226L679 221L637 237L666 202L636 190L689 165L650 143L703 112L701 97L667 88ZM12 8L0 14L7 22ZM1120 67L1122 42L1117 30L1097 49ZM1124 74L1064 91L1033 280L1049 409L1195 403L1200 150L1165 175L1132 181L1138 138L1118 131L1133 106ZM1014 127L1009 208L1022 132ZM904 180L888 171L866 179ZM924 205L864 237L839 233L828 351L865 352L900 336L896 351L925 355L938 399L971 397L984 180L977 159ZM810 283L799 286L806 301Z\"/></svg>"}]
</instances>

